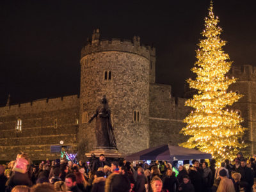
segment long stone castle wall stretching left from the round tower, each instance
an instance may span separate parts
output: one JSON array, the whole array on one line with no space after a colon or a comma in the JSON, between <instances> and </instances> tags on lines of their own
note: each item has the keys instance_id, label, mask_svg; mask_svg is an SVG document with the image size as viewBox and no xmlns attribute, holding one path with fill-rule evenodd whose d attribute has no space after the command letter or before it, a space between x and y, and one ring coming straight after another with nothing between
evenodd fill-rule
<instances>
[{"instance_id":1,"label":"long stone castle wall stretching left from the round tower","mask_svg":"<svg viewBox=\"0 0 256 192\"><path fill-rule=\"evenodd\" d=\"M28 152L33 160L60 158L50 148L61 140L77 152L78 118L77 95L0 108L0 159L13 160L19 152ZM18 119L21 131L16 130Z\"/></svg>"}]
</instances>

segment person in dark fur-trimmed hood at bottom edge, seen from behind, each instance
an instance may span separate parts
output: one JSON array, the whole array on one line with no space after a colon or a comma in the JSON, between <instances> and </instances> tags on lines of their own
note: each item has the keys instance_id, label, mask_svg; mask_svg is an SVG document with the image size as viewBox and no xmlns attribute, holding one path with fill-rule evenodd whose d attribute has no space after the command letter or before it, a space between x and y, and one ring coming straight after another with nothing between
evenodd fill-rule
<instances>
[{"instance_id":1,"label":"person in dark fur-trimmed hood at bottom edge, seen from behind","mask_svg":"<svg viewBox=\"0 0 256 192\"><path fill-rule=\"evenodd\" d=\"M106 180L105 192L129 192L131 185L125 175L111 174Z\"/></svg>"}]
</instances>

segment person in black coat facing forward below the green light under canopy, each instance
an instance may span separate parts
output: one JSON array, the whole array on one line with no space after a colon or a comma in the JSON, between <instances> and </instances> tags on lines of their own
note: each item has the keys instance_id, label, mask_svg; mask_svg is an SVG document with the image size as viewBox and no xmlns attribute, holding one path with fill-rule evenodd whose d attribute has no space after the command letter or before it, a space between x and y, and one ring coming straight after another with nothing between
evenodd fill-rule
<instances>
[{"instance_id":1,"label":"person in black coat facing forward below the green light under canopy","mask_svg":"<svg viewBox=\"0 0 256 192\"><path fill-rule=\"evenodd\" d=\"M166 171L166 176L163 179L163 189L167 189L169 192L175 192L175 187L179 186L179 182L173 173L172 168Z\"/></svg>"}]
</instances>

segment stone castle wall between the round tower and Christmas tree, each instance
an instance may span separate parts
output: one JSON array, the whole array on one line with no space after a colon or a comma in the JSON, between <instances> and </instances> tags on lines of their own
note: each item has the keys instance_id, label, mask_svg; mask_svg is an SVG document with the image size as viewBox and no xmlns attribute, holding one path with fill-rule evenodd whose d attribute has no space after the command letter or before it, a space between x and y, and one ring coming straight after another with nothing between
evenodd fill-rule
<instances>
[{"instance_id":1,"label":"stone castle wall between the round tower and Christmas tree","mask_svg":"<svg viewBox=\"0 0 256 192\"><path fill-rule=\"evenodd\" d=\"M182 120L190 112L184 106L185 100L172 97L170 85L150 84L150 147L186 141L187 138L179 134L186 125Z\"/></svg>"}]
</instances>

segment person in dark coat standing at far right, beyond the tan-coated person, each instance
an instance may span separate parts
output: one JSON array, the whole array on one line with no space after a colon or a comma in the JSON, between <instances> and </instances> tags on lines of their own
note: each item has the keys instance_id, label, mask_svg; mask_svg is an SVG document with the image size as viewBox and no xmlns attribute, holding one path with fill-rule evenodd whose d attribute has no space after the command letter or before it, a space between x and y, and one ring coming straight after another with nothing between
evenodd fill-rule
<instances>
[{"instance_id":1,"label":"person in dark coat standing at far right, beyond the tan-coated person","mask_svg":"<svg viewBox=\"0 0 256 192\"><path fill-rule=\"evenodd\" d=\"M241 187L245 188L245 192L250 192L253 185L253 172L246 166L245 159L242 159L241 169L239 169L238 173L241 174Z\"/></svg>"}]
</instances>

